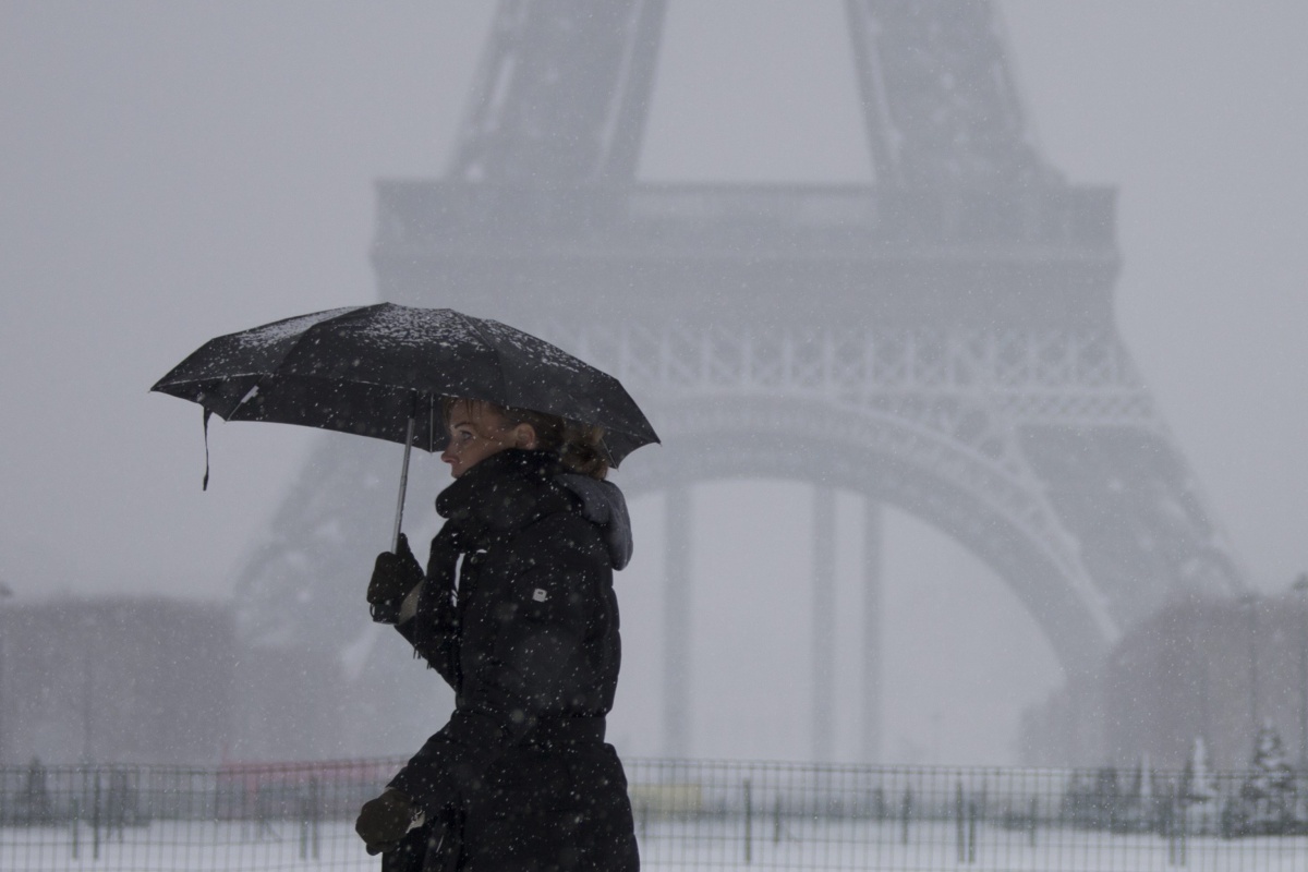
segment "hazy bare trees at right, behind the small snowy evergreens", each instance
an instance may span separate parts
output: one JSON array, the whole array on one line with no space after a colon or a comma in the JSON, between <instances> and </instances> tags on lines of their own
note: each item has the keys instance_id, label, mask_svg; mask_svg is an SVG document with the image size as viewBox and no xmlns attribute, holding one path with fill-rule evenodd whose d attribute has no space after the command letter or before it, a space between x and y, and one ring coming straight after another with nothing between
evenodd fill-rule
<instances>
[{"instance_id":1,"label":"hazy bare trees at right, behind the small snowy evergreens","mask_svg":"<svg viewBox=\"0 0 1308 872\"><path fill-rule=\"evenodd\" d=\"M1027 713L1024 762L1125 766L1148 754L1181 769L1203 739L1214 766L1243 769L1266 723L1296 760L1304 618L1288 594L1163 609L1118 642L1100 675Z\"/></svg>"}]
</instances>

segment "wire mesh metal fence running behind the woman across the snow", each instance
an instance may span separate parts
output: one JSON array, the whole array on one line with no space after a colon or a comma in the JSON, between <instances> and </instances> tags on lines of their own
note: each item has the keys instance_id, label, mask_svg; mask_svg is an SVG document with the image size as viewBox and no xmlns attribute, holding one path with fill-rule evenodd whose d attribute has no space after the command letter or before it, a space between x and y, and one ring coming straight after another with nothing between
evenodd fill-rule
<instances>
[{"instance_id":1,"label":"wire mesh metal fence running behind the woman across the snow","mask_svg":"<svg viewBox=\"0 0 1308 872\"><path fill-rule=\"evenodd\" d=\"M0 769L0 869L375 869L399 760ZM1308 871L1308 778L627 761L655 869Z\"/></svg>"}]
</instances>

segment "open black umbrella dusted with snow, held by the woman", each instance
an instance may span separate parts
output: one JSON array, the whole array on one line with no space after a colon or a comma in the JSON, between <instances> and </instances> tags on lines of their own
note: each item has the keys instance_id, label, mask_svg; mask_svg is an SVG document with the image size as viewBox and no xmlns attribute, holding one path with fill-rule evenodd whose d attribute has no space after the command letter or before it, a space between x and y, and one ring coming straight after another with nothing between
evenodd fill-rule
<instances>
[{"instance_id":1,"label":"open black umbrella dusted with snow, held by the woman","mask_svg":"<svg viewBox=\"0 0 1308 872\"><path fill-rule=\"evenodd\" d=\"M489 400L604 429L612 465L658 442L617 379L530 333L450 309L392 303L288 318L201 345L161 391L204 407L205 421L275 421L409 447L445 448L441 397Z\"/></svg>"}]
</instances>

